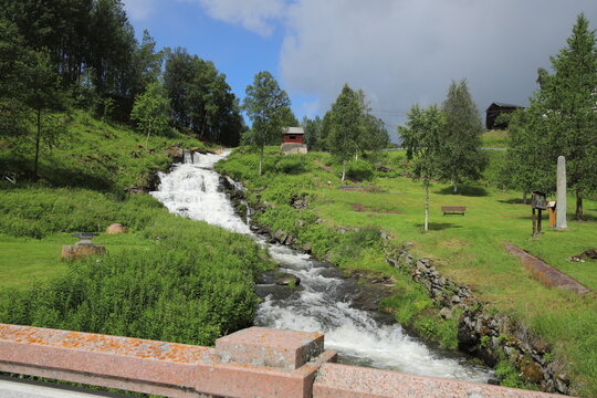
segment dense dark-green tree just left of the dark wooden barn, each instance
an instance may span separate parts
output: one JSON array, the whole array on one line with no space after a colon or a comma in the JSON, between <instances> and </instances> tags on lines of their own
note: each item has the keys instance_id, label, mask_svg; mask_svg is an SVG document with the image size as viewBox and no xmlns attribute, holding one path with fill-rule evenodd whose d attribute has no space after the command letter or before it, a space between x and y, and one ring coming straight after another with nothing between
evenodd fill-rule
<instances>
[{"instance_id":1,"label":"dense dark-green tree just left of the dark wooden barn","mask_svg":"<svg viewBox=\"0 0 597 398\"><path fill-rule=\"evenodd\" d=\"M481 151L483 123L465 80L450 84L441 111L446 118L439 159L441 177L453 185L457 193L458 184L464 178L479 179L488 164L486 156Z\"/></svg>"}]
</instances>

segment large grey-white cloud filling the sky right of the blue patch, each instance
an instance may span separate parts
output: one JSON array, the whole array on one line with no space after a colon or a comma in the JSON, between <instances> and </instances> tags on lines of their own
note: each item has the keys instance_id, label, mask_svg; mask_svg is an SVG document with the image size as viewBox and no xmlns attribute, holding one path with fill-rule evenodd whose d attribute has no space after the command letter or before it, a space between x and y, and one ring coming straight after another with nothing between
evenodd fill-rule
<instances>
[{"instance_id":1,"label":"large grey-white cloud filling the sky right of the blue patch","mask_svg":"<svg viewBox=\"0 0 597 398\"><path fill-rule=\"evenodd\" d=\"M282 83L291 96L317 94L322 113L348 83L394 124L415 102L441 103L463 77L481 112L492 101L524 105L580 11L597 23L594 0L297 0Z\"/></svg>"}]
</instances>

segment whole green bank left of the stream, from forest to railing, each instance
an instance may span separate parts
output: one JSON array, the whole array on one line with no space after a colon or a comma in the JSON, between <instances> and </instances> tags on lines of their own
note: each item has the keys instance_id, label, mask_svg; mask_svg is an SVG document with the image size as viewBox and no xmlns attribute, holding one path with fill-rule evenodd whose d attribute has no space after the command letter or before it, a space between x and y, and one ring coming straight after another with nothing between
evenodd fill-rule
<instances>
[{"instance_id":1,"label":"whole green bank left of the stream, from forest to railing","mask_svg":"<svg viewBox=\"0 0 597 398\"><path fill-rule=\"evenodd\" d=\"M174 135L151 137L146 150L126 127L83 112L66 121L67 139L43 151L36 182L19 174L27 151L0 153L4 170L17 171L17 185L0 182L0 322L199 345L251 325L254 280L272 266L266 252L126 193L169 167L172 146L205 145ZM60 259L72 232L113 222L129 232L96 238L105 256Z\"/></svg>"}]
</instances>

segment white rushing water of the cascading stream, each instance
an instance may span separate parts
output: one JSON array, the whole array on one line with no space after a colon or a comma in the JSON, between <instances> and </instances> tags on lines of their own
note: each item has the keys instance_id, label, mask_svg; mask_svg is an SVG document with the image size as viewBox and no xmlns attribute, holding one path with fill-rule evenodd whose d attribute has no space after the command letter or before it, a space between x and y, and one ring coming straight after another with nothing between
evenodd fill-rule
<instances>
[{"instance_id":1,"label":"white rushing water of the cascading stream","mask_svg":"<svg viewBox=\"0 0 597 398\"><path fill-rule=\"evenodd\" d=\"M213 165L224 155L185 153L185 164L161 174L159 190L151 195L174 213L244 233L266 244L234 213L219 190L220 176L213 171ZM326 348L337 350L338 362L347 364L481 383L490 377L486 368L430 348L383 314L353 307L358 286L355 281L342 279L336 268L283 245L268 248L282 271L301 279L301 289L282 296L266 295L256 311L256 325L323 332Z\"/></svg>"}]
</instances>

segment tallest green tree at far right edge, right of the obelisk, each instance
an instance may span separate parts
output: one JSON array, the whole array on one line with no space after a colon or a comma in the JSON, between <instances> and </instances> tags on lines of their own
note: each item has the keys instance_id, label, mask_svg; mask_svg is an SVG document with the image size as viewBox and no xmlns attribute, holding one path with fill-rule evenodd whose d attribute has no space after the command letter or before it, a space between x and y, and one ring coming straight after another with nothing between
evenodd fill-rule
<instances>
[{"instance_id":1,"label":"tallest green tree at far right edge, right of the obelisk","mask_svg":"<svg viewBox=\"0 0 597 398\"><path fill-rule=\"evenodd\" d=\"M584 14L578 15L567 43L552 57L555 73L536 94L545 129L534 133L552 138L551 161L566 157L567 182L576 195L575 214L580 220L583 197L597 190L597 45Z\"/></svg>"}]
</instances>

